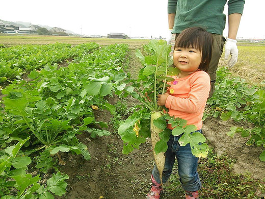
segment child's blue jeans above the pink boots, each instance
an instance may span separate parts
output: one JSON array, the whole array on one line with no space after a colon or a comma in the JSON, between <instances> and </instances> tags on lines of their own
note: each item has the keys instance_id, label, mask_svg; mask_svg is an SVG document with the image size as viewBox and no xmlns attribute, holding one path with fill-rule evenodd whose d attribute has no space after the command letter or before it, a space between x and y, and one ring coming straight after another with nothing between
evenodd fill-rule
<instances>
[{"instance_id":1,"label":"child's blue jeans above the pink boots","mask_svg":"<svg viewBox=\"0 0 265 199\"><path fill-rule=\"evenodd\" d=\"M202 133L201 130L196 132ZM170 135L170 139L168 141L168 150L166 152L165 167L162 174L162 181L165 183L169 179L176 157L181 186L186 191L197 191L201 189L201 181L197 172L198 158L192 155L190 144L187 144L186 146L179 145L178 139L181 137L181 135ZM152 175L157 183L161 183L159 172L156 166L153 168Z\"/></svg>"}]
</instances>

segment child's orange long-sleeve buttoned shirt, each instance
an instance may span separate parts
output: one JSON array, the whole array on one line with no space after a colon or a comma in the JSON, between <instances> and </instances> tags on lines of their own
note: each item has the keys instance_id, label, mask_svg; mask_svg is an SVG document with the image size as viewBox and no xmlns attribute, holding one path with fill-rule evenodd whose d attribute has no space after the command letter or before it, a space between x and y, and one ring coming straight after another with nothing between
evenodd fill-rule
<instances>
[{"instance_id":1,"label":"child's orange long-sleeve buttoned shirt","mask_svg":"<svg viewBox=\"0 0 265 199\"><path fill-rule=\"evenodd\" d=\"M165 106L170 116L186 119L187 125L195 125L198 130L202 128L202 116L210 91L209 75L198 70L188 77L177 78L170 82L169 96ZM168 125L169 129L173 129Z\"/></svg>"}]
</instances>

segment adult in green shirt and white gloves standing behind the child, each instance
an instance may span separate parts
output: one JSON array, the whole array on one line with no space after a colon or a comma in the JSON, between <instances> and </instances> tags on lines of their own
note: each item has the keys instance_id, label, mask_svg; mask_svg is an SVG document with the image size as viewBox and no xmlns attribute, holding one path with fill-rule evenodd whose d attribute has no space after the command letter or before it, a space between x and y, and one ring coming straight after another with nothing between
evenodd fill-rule
<instances>
[{"instance_id":1,"label":"adult in green shirt and white gloves standing behind the child","mask_svg":"<svg viewBox=\"0 0 265 199\"><path fill-rule=\"evenodd\" d=\"M226 22L226 15L223 13L226 3L228 4L227 39L222 36ZM228 59L229 54L231 55L228 67L233 67L237 62L236 34L239 29L244 4L245 0L168 0L170 36L167 41L168 43L171 42L172 49L174 49L177 36L186 28L199 26L205 28L208 33L213 35L213 55L208 70L211 84L209 97L213 95L215 90L216 70L223 53L224 43L225 59Z\"/></svg>"}]
</instances>

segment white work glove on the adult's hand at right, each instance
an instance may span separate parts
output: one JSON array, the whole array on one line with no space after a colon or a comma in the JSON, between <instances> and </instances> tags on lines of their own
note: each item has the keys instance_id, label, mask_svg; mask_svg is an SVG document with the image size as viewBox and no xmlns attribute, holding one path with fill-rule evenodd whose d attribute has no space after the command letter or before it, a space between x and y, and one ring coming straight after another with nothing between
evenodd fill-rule
<instances>
[{"instance_id":1,"label":"white work glove on the adult's hand at right","mask_svg":"<svg viewBox=\"0 0 265 199\"><path fill-rule=\"evenodd\" d=\"M228 61L228 67L231 68L237 62L237 55L239 55L239 50L236 46L236 40L227 38L225 42L225 59L227 60L231 55L230 60Z\"/></svg>"}]
</instances>

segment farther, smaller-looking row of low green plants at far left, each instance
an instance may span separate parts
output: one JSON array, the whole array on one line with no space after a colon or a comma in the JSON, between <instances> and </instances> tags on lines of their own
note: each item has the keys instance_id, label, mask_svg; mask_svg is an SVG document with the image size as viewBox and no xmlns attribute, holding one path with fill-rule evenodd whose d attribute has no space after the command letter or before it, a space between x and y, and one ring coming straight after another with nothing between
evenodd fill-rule
<instances>
[{"instance_id":1,"label":"farther, smaller-looking row of low green plants at far left","mask_svg":"<svg viewBox=\"0 0 265 199\"><path fill-rule=\"evenodd\" d=\"M16 45L0 48L0 83L21 79L23 73L41 69L46 63L62 63L69 58L81 57L98 48L98 44L71 46L65 43L47 45Z\"/></svg>"}]
</instances>

